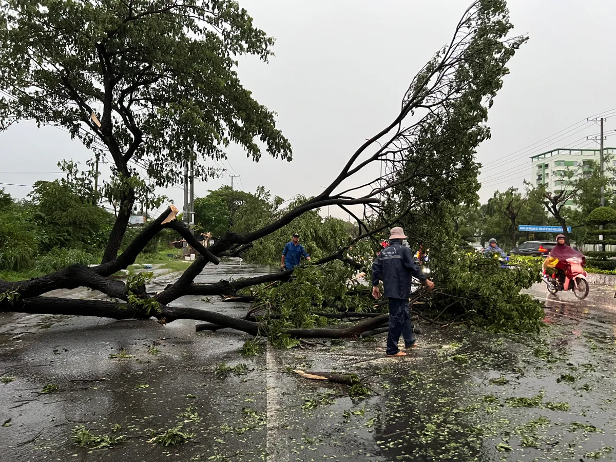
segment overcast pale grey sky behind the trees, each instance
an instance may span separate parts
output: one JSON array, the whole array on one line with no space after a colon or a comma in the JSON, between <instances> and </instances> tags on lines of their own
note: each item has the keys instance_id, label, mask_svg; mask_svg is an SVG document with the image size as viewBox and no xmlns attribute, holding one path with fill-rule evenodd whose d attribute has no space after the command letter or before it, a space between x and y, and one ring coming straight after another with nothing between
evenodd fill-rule
<instances>
[{"instance_id":1,"label":"overcast pale grey sky behind the trees","mask_svg":"<svg viewBox=\"0 0 616 462\"><path fill-rule=\"evenodd\" d=\"M230 172L195 185L196 195L230 184L230 174L240 175L235 184L248 191L265 185L284 198L318 193L363 139L397 115L408 83L451 38L469 3L240 0L254 23L277 39L269 64L240 60L240 77L259 102L277 111L294 160L264 156L254 164L234 151L230 166L225 164ZM530 155L556 147L591 147L585 137L596 135L598 126L578 122L612 109L616 114L616 2L510 0L509 10L515 32L529 34L530 40L509 62L511 75L490 110L492 139L478 153L485 165L482 201L496 189L521 187ZM608 118L606 131L615 128L616 118ZM606 145L616 145L616 138L608 138ZM0 183L21 185L59 174L8 172L57 172L60 159L84 164L89 156L66 132L30 123L1 133L0 153ZM4 187L14 197L30 191ZM181 188L166 194L181 209Z\"/></svg>"}]
</instances>

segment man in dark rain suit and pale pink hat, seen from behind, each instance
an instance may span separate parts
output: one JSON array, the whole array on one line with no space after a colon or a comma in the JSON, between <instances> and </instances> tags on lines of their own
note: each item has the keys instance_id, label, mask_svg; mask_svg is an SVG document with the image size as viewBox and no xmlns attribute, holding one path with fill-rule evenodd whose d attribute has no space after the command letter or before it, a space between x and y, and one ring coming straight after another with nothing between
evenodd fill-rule
<instances>
[{"instance_id":1,"label":"man in dark rain suit and pale pink hat, seen from behind","mask_svg":"<svg viewBox=\"0 0 616 462\"><path fill-rule=\"evenodd\" d=\"M389 246L384 248L372 264L372 295L381 296L379 280L383 281L385 296L389 299L389 333L387 334L387 356L406 356L400 351L400 334L404 337L405 349L415 346L413 325L408 310L408 293L411 276L418 278L430 290L434 283L427 280L421 269L413 262L413 254L402 245L407 237L400 227L391 229Z\"/></svg>"}]
</instances>

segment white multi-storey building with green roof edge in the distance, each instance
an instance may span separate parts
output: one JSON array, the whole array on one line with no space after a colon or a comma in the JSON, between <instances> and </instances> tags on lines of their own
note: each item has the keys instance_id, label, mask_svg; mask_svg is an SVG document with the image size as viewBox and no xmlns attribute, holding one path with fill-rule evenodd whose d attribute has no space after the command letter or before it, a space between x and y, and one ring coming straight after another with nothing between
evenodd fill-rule
<instances>
[{"instance_id":1,"label":"white multi-storey building with green roof edge in the distance","mask_svg":"<svg viewBox=\"0 0 616 462\"><path fill-rule=\"evenodd\" d=\"M616 148L603 148L603 155L613 155ZM530 184L535 186L546 185L549 192L562 191L567 188L567 183L584 174L590 173L588 161L599 163L599 149L570 149L557 148L548 152L534 155L530 158ZM604 163L606 176L612 176L607 171L608 167L616 167L616 160ZM565 171L572 171L573 178L567 180ZM567 201L567 205L573 205L573 201Z\"/></svg>"}]
</instances>

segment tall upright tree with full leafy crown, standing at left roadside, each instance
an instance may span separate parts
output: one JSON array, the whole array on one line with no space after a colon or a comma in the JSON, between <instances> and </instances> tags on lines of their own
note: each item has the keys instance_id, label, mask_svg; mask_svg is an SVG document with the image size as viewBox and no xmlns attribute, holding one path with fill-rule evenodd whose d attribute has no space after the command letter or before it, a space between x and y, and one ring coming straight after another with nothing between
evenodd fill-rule
<instances>
[{"instance_id":1,"label":"tall upright tree with full leafy crown, standing at left roadside","mask_svg":"<svg viewBox=\"0 0 616 462\"><path fill-rule=\"evenodd\" d=\"M25 46L27 44L27 46ZM208 158L239 145L291 159L274 113L238 78L239 55L267 62L274 39L232 0L9 0L0 6L0 129L34 120L67 129L113 163L117 217L103 262L115 258L142 185L214 174Z\"/></svg>"}]
</instances>

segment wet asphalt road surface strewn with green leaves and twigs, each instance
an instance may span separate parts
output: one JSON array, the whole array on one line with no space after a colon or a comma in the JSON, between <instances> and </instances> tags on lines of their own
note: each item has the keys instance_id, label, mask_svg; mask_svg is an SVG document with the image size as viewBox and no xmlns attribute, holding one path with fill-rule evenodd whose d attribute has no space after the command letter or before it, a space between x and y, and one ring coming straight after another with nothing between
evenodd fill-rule
<instances>
[{"instance_id":1,"label":"wet asphalt road surface strewn with green leaves and twigs","mask_svg":"<svg viewBox=\"0 0 616 462\"><path fill-rule=\"evenodd\" d=\"M263 271L208 270L200 282ZM194 321L8 315L0 461L616 460L614 291L546 306L538 336L421 325L404 359L384 357L383 335L243 357L248 336L195 334ZM369 394L298 368L355 373Z\"/></svg>"}]
</instances>

